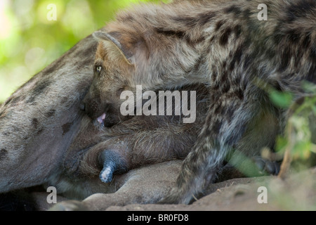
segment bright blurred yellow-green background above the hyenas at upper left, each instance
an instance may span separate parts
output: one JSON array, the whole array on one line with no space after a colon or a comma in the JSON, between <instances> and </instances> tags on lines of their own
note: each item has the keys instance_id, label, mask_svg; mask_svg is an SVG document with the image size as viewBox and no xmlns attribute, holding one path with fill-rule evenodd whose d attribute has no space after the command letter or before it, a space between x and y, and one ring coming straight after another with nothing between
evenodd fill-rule
<instances>
[{"instance_id":1,"label":"bright blurred yellow-green background above the hyenas at upper left","mask_svg":"<svg viewBox=\"0 0 316 225\"><path fill-rule=\"evenodd\" d=\"M140 1L0 0L0 103L119 8ZM48 20L54 15L50 4L56 20Z\"/></svg>"}]
</instances>

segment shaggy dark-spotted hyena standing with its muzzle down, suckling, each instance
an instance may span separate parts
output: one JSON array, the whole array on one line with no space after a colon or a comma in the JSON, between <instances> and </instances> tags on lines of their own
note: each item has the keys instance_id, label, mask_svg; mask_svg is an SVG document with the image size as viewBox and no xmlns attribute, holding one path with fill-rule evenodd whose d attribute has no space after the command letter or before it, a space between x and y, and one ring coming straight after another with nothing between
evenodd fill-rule
<instances>
[{"instance_id":1,"label":"shaggy dark-spotted hyena standing with its muzzle down, suckling","mask_svg":"<svg viewBox=\"0 0 316 225\"><path fill-rule=\"evenodd\" d=\"M259 4L268 20L258 20ZM204 127L162 201L190 203L225 161L239 164L240 155L274 146L287 113L268 91L290 92L295 101L307 94L302 82L316 83L315 18L315 0L177 1L122 12L94 34L100 43L86 110L115 124L123 90L208 84Z\"/></svg>"}]
</instances>

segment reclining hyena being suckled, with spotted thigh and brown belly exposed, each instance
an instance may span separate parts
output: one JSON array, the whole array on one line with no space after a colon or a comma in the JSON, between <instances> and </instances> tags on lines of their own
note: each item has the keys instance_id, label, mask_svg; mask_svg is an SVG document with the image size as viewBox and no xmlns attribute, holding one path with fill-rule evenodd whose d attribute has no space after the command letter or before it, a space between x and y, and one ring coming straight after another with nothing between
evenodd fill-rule
<instances>
[{"instance_id":1,"label":"reclining hyena being suckled, with spotted thigh and brown belly exposed","mask_svg":"<svg viewBox=\"0 0 316 225\"><path fill-rule=\"evenodd\" d=\"M195 124L183 124L177 116L140 116L106 128L80 110L93 79L91 67L97 44L92 36L81 40L0 105L2 210L4 205L13 205L10 195L4 193L39 185L55 186L59 194L75 199L124 187L125 191L117 193L121 202L154 203L166 192L166 184L173 181L177 163L161 166L171 169L169 177L148 177L145 171L152 168L152 173L158 172L158 166L115 175L116 179L108 181L114 174L136 167L183 159L194 145L203 124L199 118L205 117L209 105L205 85L182 87L199 90ZM103 165L112 165L107 177L103 176L107 184L98 177ZM126 198L126 188L134 190L138 179L147 179L152 186L140 188L144 198L132 194Z\"/></svg>"}]
</instances>

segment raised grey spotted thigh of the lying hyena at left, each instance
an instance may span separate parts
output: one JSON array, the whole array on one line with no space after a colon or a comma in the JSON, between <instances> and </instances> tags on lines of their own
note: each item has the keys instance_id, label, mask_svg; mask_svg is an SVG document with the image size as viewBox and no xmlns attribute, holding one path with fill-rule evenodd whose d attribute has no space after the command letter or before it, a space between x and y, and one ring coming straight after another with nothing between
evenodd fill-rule
<instances>
[{"instance_id":1,"label":"raised grey spotted thigh of the lying hyena at left","mask_svg":"<svg viewBox=\"0 0 316 225\"><path fill-rule=\"evenodd\" d=\"M93 37L35 75L0 107L0 193L43 184L59 167L91 83Z\"/></svg>"}]
</instances>

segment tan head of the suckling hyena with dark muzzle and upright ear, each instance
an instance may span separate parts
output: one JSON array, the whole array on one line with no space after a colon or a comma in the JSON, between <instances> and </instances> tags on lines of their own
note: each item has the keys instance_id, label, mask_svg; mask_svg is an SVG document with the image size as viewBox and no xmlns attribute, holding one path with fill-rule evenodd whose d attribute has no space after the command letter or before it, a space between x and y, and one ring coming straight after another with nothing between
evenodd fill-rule
<instances>
[{"instance_id":1,"label":"tan head of the suckling hyena with dark muzzle and upright ear","mask_svg":"<svg viewBox=\"0 0 316 225\"><path fill-rule=\"evenodd\" d=\"M129 52L122 49L115 34L95 32L99 39L93 65L93 82L86 94L81 109L93 120L110 127L124 120L119 112L121 92L131 86L130 77L135 66Z\"/></svg>"}]
</instances>

